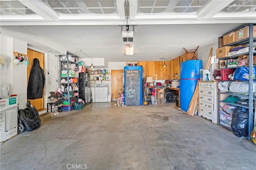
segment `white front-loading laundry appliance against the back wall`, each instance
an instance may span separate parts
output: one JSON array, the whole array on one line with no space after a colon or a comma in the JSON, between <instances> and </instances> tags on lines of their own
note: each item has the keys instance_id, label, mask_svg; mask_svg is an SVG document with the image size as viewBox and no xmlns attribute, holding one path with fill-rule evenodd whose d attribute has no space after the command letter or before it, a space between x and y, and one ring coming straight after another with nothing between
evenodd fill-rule
<instances>
[{"instance_id":1,"label":"white front-loading laundry appliance against the back wall","mask_svg":"<svg viewBox=\"0 0 256 170\"><path fill-rule=\"evenodd\" d=\"M97 84L95 102L108 102L108 84Z\"/></svg>"}]
</instances>

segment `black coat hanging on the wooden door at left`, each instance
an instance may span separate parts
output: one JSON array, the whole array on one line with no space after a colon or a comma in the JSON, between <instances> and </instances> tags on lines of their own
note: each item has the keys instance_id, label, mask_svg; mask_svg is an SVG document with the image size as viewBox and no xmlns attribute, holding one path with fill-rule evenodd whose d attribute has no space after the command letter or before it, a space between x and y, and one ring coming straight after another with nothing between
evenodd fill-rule
<instances>
[{"instance_id":1,"label":"black coat hanging on the wooden door at left","mask_svg":"<svg viewBox=\"0 0 256 170\"><path fill-rule=\"evenodd\" d=\"M45 83L44 70L40 67L38 59L34 59L30 76L28 79L28 99L39 99L43 98L43 89Z\"/></svg>"}]
</instances>

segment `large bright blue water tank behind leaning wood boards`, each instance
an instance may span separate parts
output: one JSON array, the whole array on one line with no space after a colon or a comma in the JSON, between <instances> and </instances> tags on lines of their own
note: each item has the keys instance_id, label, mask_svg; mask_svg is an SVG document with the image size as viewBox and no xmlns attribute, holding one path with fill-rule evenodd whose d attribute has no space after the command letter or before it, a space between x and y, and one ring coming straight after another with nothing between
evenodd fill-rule
<instances>
[{"instance_id":1,"label":"large bright blue water tank behind leaning wood boards","mask_svg":"<svg viewBox=\"0 0 256 170\"><path fill-rule=\"evenodd\" d=\"M188 111L188 107L197 81L200 80L202 60L187 60L180 64L180 108Z\"/></svg>"}]
</instances>

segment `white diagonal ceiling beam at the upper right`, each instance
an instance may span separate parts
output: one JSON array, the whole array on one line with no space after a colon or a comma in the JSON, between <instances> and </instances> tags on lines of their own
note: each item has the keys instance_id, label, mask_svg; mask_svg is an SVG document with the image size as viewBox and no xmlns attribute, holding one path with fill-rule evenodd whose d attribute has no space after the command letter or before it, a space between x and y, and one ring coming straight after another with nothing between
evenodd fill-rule
<instances>
[{"instance_id":1,"label":"white diagonal ceiling beam at the upper right","mask_svg":"<svg viewBox=\"0 0 256 170\"><path fill-rule=\"evenodd\" d=\"M197 19L212 19L215 14L233 1L234 0L211 0L200 12L198 12Z\"/></svg>"}]
</instances>

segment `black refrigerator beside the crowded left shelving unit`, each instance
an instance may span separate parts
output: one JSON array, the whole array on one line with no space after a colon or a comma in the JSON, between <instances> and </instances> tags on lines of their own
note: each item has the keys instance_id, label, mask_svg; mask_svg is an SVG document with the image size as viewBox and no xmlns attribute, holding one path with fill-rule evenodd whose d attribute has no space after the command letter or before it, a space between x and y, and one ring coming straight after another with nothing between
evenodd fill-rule
<instances>
[{"instance_id":1,"label":"black refrigerator beside the crowded left shelving unit","mask_svg":"<svg viewBox=\"0 0 256 170\"><path fill-rule=\"evenodd\" d=\"M90 74L79 73L79 98L84 100L85 106L91 103Z\"/></svg>"}]
</instances>

